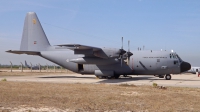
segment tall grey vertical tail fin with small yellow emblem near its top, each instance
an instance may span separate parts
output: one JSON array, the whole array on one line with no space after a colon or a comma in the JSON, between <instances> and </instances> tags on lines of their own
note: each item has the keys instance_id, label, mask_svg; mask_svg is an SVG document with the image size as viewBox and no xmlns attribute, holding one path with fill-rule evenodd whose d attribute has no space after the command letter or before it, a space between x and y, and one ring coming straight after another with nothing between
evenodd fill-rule
<instances>
[{"instance_id":1,"label":"tall grey vertical tail fin with small yellow emblem near its top","mask_svg":"<svg viewBox=\"0 0 200 112\"><path fill-rule=\"evenodd\" d=\"M35 12L28 12L24 21L21 51L45 51L50 46Z\"/></svg>"}]
</instances>

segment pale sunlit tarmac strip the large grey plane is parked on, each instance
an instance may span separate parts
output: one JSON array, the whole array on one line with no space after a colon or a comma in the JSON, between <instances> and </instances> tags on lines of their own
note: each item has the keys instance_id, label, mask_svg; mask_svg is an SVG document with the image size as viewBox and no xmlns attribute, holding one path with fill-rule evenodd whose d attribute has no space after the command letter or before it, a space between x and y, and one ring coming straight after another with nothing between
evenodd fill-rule
<instances>
[{"instance_id":1,"label":"pale sunlit tarmac strip the large grey plane is parked on","mask_svg":"<svg viewBox=\"0 0 200 112\"><path fill-rule=\"evenodd\" d=\"M151 75L136 75L132 78L120 77L120 79L97 79L94 75L81 74L49 74L33 76L0 76L0 80L6 78L7 81L20 82L49 82L49 83L108 83L108 84L134 84L152 85L157 83L162 86L195 87L200 88L200 77L195 74L172 75L171 80L158 78Z\"/></svg>"}]
</instances>

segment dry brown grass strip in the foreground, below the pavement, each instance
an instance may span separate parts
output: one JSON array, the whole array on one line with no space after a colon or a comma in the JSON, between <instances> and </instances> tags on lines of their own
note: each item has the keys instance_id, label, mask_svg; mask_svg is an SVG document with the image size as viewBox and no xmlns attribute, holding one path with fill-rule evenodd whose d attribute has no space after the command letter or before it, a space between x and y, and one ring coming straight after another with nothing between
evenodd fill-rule
<instances>
[{"instance_id":1,"label":"dry brown grass strip in the foreground, below the pavement","mask_svg":"<svg viewBox=\"0 0 200 112\"><path fill-rule=\"evenodd\" d=\"M0 111L200 111L200 89L109 84L0 82ZM58 111L61 111L58 110ZM23 110L25 111L25 110ZM49 111L49 110L48 110Z\"/></svg>"}]
</instances>

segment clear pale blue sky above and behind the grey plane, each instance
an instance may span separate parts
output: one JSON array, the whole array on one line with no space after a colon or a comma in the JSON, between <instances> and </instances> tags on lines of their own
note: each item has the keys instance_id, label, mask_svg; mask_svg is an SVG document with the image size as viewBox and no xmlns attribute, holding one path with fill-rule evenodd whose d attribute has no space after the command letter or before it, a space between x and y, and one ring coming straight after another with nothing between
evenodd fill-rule
<instances>
[{"instance_id":1,"label":"clear pale blue sky above and behind the grey plane","mask_svg":"<svg viewBox=\"0 0 200 112\"><path fill-rule=\"evenodd\" d=\"M5 53L18 50L24 18L36 12L51 45L78 43L131 50L173 49L200 66L199 0L1 0L0 64L50 64L36 56Z\"/></svg>"}]
</instances>

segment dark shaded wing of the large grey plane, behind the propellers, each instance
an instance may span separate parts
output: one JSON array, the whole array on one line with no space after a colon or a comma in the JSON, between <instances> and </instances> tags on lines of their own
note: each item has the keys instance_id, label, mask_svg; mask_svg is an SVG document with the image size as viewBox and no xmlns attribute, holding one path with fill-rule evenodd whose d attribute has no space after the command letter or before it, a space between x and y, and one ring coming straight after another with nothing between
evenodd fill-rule
<instances>
[{"instance_id":1,"label":"dark shaded wing of the large grey plane, behind the propellers","mask_svg":"<svg viewBox=\"0 0 200 112\"><path fill-rule=\"evenodd\" d=\"M98 47L86 46L81 44L62 44L56 45L59 46L58 49L71 49L74 51L74 54L84 54L85 57L99 57L99 58L108 58L105 52Z\"/></svg>"}]
</instances>

